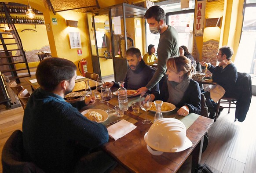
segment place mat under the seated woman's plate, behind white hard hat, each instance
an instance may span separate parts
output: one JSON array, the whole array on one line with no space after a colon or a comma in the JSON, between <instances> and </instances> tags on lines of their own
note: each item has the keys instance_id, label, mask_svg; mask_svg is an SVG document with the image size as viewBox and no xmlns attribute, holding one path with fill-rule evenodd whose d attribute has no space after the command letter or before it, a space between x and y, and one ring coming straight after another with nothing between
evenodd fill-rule
<instances>
[{"instance_id":1,"label":"place mat under the seated woman's plate, behind white hard hat","mask_svg":"<svg viewBox=\"0 0 256 173\"><path fill-rule=\"evenodd\" d=\"M163 118L175 118L175 119L179 119L181 122L183 122L186 126L186 129L188 129L196 120L200 115L194 114L194 113L190 113L187 116L181 116L177 114L177 110L168 112L168 113L163 113ZM141 113L142 112L142 113ZM146 119L146 112L141 110L139 111L139 114L135 114L134 112L131 112L133 115L137 115L140 118ZM141 113L141 114L140 114ZM155 112L147 112L147 118L150 119L152 122L154 122L154 116L155 116Z\"/></svg>"}]
</instances>

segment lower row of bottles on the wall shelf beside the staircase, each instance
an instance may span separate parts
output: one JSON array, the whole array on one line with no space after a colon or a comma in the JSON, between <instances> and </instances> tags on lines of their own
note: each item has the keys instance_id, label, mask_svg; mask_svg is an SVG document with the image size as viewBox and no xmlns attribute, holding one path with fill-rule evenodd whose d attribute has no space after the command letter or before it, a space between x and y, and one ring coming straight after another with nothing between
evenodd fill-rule
<instances>
[{"instance_id":1,"label":"lower row of bottles on the wall shelf beside the staircase","mask_svg":"<svg viewBox=\"0 0 256 173\"><path fill-rule=\"evenodd\" d=\"M11 16L11 20L14 24L42 24L44 25L44 18L27 18L27 17L17 17L17 16ZM4 15L0 16L0 23L7 23L7 20Z\"/></svg>"}]
</instances>

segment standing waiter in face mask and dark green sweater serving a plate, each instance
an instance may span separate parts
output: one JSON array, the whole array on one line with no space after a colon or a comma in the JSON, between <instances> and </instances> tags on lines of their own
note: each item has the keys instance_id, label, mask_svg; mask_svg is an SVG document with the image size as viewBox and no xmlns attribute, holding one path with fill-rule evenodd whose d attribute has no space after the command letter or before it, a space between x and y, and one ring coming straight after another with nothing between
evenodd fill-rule
<instances>
[{"instance_id":1,"label":"standing waiter in face mask and dark green sweater serving a plate","mask_svg":"<svg viewBox=\"0 0 256 173\"><path fill-rule=\"evenodd\" d=\"M160 33L157 47L158 62L154 76L146 86L137 90L138 93L136 95L144 94L151 90L165 76L167 59L179 56L178 32L175 28L165 23L165 11L159 6L152 6L146 11L144 17L150 26L150 32L153 34Z\"/></svg>"}]
</instances>

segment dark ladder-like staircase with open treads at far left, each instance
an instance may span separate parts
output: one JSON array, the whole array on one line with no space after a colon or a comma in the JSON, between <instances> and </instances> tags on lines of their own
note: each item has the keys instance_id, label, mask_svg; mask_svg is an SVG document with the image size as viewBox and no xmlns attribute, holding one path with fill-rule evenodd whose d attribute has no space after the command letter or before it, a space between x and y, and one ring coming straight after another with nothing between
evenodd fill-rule
<instances>
[{"instance_id":1,"label":"dark ladder-like staircase with open treads at far left","mask_svg":"<svg viewBox=\"0 0 256 173\"><path fill-rule=\"evenodd\" d=\"M9 27L10 31L6 31L5 29L0 27L0 69L2 73L5 74L5 76L8 76L9 79L15 79L16 83L20 83L20 78L24 77L31 77L30 71L29 71L29 65L26 59L25 51L22 47L22 41L18 35L18 32L15 28L15 25L11 19L11 15L8 12L8 9L4 2L0 2L0 9L1 9L1 17L4 21L4 24L1 23L1 26L7 26ZM5 27L4 27L5 28ZM13 48L14 45L17 46L17 48ZM12 47L8 49L8 47ZM16 51L16 55L12 54L12 51ZM15 57L22 57L22 61L14 61ZM25 63L26 68L16 68L15 64L21 64ZM18 71L26 70L28 74L26 75L18 75Z\"/></svg>"}]
</instances>

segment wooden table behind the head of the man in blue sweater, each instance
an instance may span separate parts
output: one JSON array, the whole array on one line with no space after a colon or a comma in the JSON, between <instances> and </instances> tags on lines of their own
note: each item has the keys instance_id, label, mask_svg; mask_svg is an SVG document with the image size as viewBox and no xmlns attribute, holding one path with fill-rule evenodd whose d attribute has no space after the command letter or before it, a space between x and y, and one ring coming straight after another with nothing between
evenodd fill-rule
<instances>
[{"instance_id":1,"label":"wooden table behind the head of the man in blue sweater","mask_svg":"<svg viewBox=\"0 0 256 173\"><path fill-rule=\"evenodd\" d=\"M76 83L75 83L75 87L73 88L72 92L85 90L85 83L84 83L85 79L88 79L88 78L77 79ZM29 85L31 86L33 91L40 87L40 85L37 82L33 82L33 80L35 80L35 78L30 78L30 79L25 79L25 80L27 83L29 83ZM89 79L89 85L91 87L91 90L96 89L96 83L97 83L97 81Z\"/></svg>"}]
</instances>

